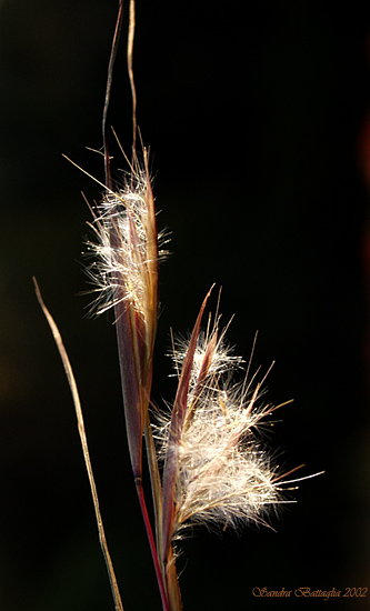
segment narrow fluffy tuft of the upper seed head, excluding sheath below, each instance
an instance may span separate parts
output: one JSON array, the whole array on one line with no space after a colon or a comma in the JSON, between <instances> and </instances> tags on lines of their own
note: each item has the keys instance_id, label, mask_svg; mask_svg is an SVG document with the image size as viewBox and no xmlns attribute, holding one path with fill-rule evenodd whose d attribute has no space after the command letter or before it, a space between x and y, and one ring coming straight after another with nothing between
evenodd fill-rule
<instances>
[{"instance_id":1,"label":"narrow fluffy tuft of the upper seed head, excluding sheath below","mask_svg":"<svg viewBox=\"0 0 370 611\"><path fill-rule=\"evenodd\" d=\"M91 227L97 241L88 248L90 280L99 292L98 314L127 301L150 318L158 274L157 223L147 169L136 169L117 191L107 189Z\"/></svg>"}]
</instances>

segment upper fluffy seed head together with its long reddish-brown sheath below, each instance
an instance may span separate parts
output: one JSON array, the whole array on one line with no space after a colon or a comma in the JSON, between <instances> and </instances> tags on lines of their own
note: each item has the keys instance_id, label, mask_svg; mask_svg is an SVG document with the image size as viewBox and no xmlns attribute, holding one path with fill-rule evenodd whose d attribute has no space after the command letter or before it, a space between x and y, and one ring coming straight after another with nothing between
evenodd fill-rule
<instances>
[{"instance_id":1,"label":"upper fluffy seed head together with its long reddish-brown sheath below","mask_svg":"<svg viewBox=\"0 0 370 611\"><path fill-rule=\"evenodd\" d=\"M99 293L98 314L114 310L131 463L142 471L142 433L148 418L158 320L158 249L154 199L143 151L123 187L106 188L91 227L97 241L88 276Z\"/></svg>"}]
</instances>

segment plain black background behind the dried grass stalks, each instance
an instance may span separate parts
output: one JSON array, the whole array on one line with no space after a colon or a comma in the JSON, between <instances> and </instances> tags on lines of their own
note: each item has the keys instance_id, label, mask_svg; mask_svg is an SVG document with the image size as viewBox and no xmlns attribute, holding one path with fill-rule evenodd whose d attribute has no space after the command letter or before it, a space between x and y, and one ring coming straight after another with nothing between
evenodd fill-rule
<instances>
[{"instance_id":1,"label":"plain black background behind the dried grass stalks","mask_svg":"<svg viewBox=\"0 0 370 611\"><path fill-rule=\"evenodd\" d=\"M253 588L370 588L369 11L352 1L138 0L138 121L151 148L161 268L153 398L171 401L169 329L209 287L229 339L266 371L272 451L306 463L272 529L204 530L179 559L184 610L313 608ZM86 317L81 269L101 189L101 112L114 0L0 2L0 609L111 610L73 407L31 277L79 383L126 611L159 610L126 449L111 317ZM109 123L126 150L124 32ZM113 139L112 139L113 140ZM124 161L114 150L119 178ZM216 294L211 307L216 308ZM328 601L357 609L367 599ZM347 599L348 600L348 599Z\"/></svg>"}]
</instances>

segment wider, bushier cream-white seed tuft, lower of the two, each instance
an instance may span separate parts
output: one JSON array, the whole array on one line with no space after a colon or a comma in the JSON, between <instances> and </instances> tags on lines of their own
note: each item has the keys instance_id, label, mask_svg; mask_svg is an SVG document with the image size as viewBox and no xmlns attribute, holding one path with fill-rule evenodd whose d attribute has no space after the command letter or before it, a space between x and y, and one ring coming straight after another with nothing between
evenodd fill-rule
<instances>
[{"instance_id":1,"label":"wider, bushier cream-white seed tuft, lower of the two","mask_svg":"<svg viewBox=\"0 0 370 611\"><path fill-rule=\"evenodd\" d=\"M177 368L184 367L187 354L189 347L181 342L174 349ZM193 523L264 522L268 511L282 501L281 477L257 432L261 419L276 408L260 404L262 382L253 384L248 372L241 384L233 381L241 363L224 342L224 331L218 337L217 325L199 333L182 421L174 405L174 415L161 417L154 428L164 482L166 471L176 471L172 539Z\"/></svg>"}]
</instances>

